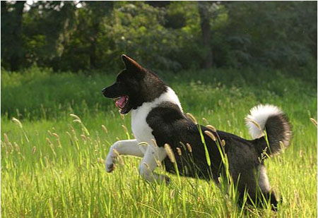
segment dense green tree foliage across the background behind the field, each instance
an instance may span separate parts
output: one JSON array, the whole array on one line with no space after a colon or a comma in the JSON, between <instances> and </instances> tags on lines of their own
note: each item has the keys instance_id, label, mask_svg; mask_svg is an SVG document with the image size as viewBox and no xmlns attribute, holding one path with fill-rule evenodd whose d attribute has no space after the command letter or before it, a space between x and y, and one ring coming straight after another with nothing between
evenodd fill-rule
<instances>
[{"instance_id":1,"label":"dense green tree foliage across the background behind the field","mask_svg":"<svg viewBox=\"0 0 318 218\"><path fill-rule=\"evenodd\" d=\"M1 63L54 71L110 71L120 54L149 68L271 66L290 73L317 65L314 1L220 1L202 4L211 36L202 40L196 1L1 2ZM19 25L20 23L20 25ZM17 32L16 37L12 37ZM204 43L206 42L206 43Z\"/></svg>"}]
</instances>

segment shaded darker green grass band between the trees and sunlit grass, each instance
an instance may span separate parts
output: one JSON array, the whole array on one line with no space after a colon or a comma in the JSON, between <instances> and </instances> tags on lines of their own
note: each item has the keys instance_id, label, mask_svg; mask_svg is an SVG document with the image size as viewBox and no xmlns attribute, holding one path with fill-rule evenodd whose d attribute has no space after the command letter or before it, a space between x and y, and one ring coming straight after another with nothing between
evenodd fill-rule
<instances>
[{"instance_id":1,"label":"shaded darker green grass band between the trees and sunlit grass","mask_svg":"<svg viewBox=\"0 0 318 218\"><path fill-rule=\"evenodd\" d=\"M275 102L283 97L286 102L309 104L303 96L315 97L315 80L302 80L311 74L312 68L304 69L300 76L290 78L283 71L256 69L222 69L186 71L182 74L158 74L163 80L187 99L184 107L196 110L199 100L207 108L218 106L219 96L232 95L237 101L251 99L258 102ZM48 68L28 68L21 73L1 72L1 113L8 118L18 119L64 119L68 113L80 116L95 114L95 111L114 109L112 101L102 97L103 87L114 82L117 72L113 73L54 73ZM302 76L301 76L302 75ZM184 87L190 87L184 92ZM242 88L244 87L244 88ZM197 92L201 92L198 95ZM241 97L245 99L240 99ZM290 98L289 98L290 97ZM17 100L18 99L18 100ZM251 105L252 107L252 105ZM67 112L66 112L67 111Z\"/></svg>"}]
</instances>

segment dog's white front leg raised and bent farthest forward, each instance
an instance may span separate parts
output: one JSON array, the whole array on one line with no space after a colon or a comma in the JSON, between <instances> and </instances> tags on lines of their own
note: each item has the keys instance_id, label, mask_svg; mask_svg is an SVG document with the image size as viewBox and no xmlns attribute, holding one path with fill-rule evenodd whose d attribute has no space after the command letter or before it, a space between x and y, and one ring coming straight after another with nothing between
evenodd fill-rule
<instances>
[{"instance_id":1,"label":"dog's white front leg raised and bent farthest forward","mask_svg":"<svg viewBox=\"0 0 318 218\"><path fill-rule=\"evenodd\" d=\"M116 151L114 151L116 150ZM117 158L117 155L131 155L136 157L143 157L143 152L139 147L137 140L120 140L114 143L110 147L110 152L108 152L105 168L107 172L114 170L114 162Z\"/></svg>"}]
</instances>

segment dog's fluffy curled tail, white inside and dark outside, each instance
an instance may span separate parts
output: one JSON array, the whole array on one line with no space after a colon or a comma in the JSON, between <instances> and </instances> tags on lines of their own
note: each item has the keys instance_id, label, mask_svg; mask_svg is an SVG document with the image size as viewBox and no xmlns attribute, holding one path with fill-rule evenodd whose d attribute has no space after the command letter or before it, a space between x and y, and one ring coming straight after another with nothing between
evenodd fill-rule
<instances>
[{"instance_id":1,"label":"dog's fluffy curled tail, white inside and dark outside","mask_svg":"<svg viewBox=\"0 0 318 218\"><path fill-rule=\"evenodd\" d=\"M278 155L290 145L290 123L283 111L276 106L259 104L253 107L246 117L246 124L260 153Z\"/></svg>"}]
</instances>

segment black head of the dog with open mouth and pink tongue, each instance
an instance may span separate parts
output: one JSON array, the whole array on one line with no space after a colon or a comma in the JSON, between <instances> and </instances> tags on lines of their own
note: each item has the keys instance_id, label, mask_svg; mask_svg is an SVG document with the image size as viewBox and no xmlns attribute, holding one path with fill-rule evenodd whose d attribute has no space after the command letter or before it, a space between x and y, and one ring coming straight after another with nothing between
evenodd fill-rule
<instances>
[{"instance_id":1,"label":"black head of the dog with open mouth and pink tongue","mask_svg":"<svg viewBox=\"0 0 318 218\"><path fill-rule=\"evenodd\" d=\"M105 97L116 102L121 114L127 114L143 102L151 102L167 90L157 75L147 71L129 56L122 55L125 69L117 75L116 82L102 90Z\"/></svg>"}]
</instances>

